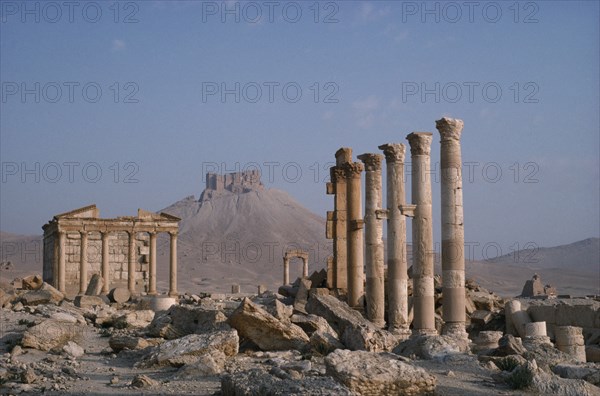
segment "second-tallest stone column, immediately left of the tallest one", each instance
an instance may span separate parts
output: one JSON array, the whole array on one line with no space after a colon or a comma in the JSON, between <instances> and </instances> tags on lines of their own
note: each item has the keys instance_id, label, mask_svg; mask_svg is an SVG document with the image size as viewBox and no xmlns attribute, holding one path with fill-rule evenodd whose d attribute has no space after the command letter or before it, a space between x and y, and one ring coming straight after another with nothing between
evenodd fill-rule
<instances>
[{"instance_id":1,"label":"second-tallest stone column, immediately left of the tallest one","mask_svg":"<svg viewBox=\"0 0 600 396\"><path fill-rule=\"evenodd\" d=\"M432 134L413 132L406 137L412 162L413 306L415 334L436 334L433 287L433 224L431 215L430 149Z\"/></svg>"}]
</instances>

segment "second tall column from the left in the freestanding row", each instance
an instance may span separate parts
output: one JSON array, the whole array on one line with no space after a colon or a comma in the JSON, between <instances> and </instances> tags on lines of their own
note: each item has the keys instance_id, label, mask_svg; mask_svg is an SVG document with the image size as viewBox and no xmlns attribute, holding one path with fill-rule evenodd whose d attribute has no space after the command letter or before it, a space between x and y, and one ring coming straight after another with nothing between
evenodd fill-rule
<instances>
[{"instance_id":1,"label":"second tall column from the left in the freestanding row","mask_svg":"<svg viewBox=\"0 0 600 396\"><path fill-rule=\"evenodd\" d=\"M363 165L349 162L344 165L346 173L347 200L347 257L348 257L348 305L363 309L364 269L363 269L363 226L361 215L360 174Z\"/></svg>"}]
</instances>

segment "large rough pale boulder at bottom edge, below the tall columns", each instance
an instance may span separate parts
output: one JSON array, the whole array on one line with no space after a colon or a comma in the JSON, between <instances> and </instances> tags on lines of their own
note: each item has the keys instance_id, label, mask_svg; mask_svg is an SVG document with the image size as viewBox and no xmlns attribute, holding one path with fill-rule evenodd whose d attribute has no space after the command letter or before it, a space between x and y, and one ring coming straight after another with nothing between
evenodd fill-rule
<instances>
[{"instance_id":1,"label":"large rough pale boulder at bottom edge, below the tall columns","mask_svg":"<svg viewBox=\"0 0 600 396\"><path fill-rule=\"evenodd\" d=\"M436 379L391 353L337 350L325 358L327 374L359 395L433 394Z\"/></svg>"}]
</instances>

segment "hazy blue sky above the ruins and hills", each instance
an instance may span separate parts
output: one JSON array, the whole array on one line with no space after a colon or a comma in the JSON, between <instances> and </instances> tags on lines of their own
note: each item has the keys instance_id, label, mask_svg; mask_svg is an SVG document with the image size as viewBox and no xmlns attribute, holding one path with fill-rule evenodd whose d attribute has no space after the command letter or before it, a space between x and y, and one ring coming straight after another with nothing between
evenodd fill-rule
<instances>
[{"instance_id":1,"label":"hazy blue sky above the ruins and hills","mask_svg":"<svg viewBox=\"0 0 600 396\"><path fill-rule=\"evenodd\" d=\"M598 2L0 5L2 231L257 167L324 215L339 147L431 131L435 171L452 116L478 256L600 234ZM439 241L439 177L433 200Z\"/></svg>"}]
</instances>

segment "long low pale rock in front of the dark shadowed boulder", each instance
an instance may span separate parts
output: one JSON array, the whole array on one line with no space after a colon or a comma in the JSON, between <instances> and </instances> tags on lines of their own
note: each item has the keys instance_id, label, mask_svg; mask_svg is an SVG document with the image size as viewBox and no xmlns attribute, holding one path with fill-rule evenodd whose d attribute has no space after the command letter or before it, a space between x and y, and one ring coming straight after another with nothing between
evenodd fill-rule
<instances>
[{"instance_id":1,"label":"long low pale rock in front of the dark shadowed boulder","mask_svg":"<svg viewBox=\"0 0 600 396\"><path fill-rule=\"evenodd\" d=\"M238 353L239 341L235 330L190 334L157 346L136 363L136 367L166 365L181 367L196 362L200 355L214 351L221 351L226 356L234 356Z\"/></svg>"}]
</instances>

